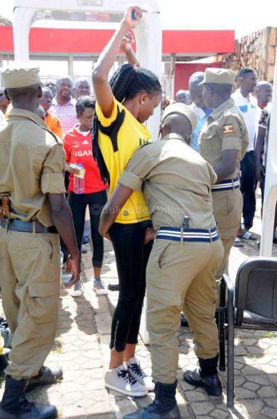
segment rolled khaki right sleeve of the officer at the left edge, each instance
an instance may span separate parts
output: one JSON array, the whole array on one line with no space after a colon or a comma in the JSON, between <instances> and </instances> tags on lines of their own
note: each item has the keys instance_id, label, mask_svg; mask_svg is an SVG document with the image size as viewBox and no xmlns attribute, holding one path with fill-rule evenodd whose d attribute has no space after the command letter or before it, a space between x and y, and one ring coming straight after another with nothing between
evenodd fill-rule
<instances>
[{"instance_id":1,"label":"rolled khaki right sleeve of the officer at the left edge","mask_svg":"<svg viewBox=\"0 0 277 419\"><path fill-rule=\"evenodd\" d=\"M54 145L42 165L40 188L42 193L65 193L65 154L63 145Z\"/></svg>"}]
</instances>

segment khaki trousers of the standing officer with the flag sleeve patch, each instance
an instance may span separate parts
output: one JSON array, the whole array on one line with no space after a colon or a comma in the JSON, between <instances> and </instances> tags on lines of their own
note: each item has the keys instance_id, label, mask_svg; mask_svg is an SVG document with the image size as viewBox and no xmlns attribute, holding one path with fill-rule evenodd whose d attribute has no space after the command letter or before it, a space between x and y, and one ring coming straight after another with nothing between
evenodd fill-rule
<instances>
[{"instance_id":1,"label":"khaki trousers of the standing officer with the flag sleeve patch","mask_svg":"<svg viewBox=\"0 0 277 419\"><path fill-rule=\"evenodd\" d=\"M239 188L229 191L212 192L214 218L224 247L224 256L216 272L219 281L228 274L228 260L232 245L237 237L242 217L242 193Z\"/></svg>"}]
</instances>

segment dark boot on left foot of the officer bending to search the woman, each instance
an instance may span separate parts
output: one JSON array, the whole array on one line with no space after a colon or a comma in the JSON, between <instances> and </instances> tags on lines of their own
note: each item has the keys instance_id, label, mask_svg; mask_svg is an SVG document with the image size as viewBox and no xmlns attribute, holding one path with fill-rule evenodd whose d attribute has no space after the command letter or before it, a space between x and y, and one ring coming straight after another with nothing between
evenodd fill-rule
<instances>
[{"instance_id":1,"label":"dark boot on left foot of the officer bending to search the woman","mask_svg":"<svg viewBox=\"0 0 277 419\"><path fill-rule=\"evenodd\" d=\"M137 412L128 413L123 419L180 419L176 387L177 381L173 384L156 383L154 402Z\"/></svg>"}]
</instances>

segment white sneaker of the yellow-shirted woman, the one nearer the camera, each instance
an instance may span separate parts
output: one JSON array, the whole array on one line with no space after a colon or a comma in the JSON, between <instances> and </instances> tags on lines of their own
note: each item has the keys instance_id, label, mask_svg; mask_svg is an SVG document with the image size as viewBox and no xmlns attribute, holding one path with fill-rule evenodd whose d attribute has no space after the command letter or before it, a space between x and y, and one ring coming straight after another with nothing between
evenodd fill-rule
<instances>
[{"instance_id":1,"label":"white sneaker of the yellow-shirted woman, the one nearer the camera","mask_svg":"<svg viewBox=\"0 0 277 419\"><path fill-rule=\"evenodd\" d=\"M148 393L147 388L136 381L129 373L129 369L123 364L106 372L105 385L106 388L111 388L111 390L116 390L122 393L122 395L132 397L143 397Z\"/></svg>"}]
</instances>

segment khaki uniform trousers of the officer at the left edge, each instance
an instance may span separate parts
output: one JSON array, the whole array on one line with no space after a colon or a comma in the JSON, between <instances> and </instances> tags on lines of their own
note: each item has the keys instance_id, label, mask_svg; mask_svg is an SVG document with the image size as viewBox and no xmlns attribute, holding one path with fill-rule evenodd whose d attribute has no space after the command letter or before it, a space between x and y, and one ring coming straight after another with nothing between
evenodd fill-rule
<instances>
[{"instance_id":1,"label":"khaki uniform trousers of the officer at the left edge","mask_svg":"<svg viewBox=\"0 0 277 419\"><path fill-rule=\"evenodd\" d=\"M0 228L0 286L12 332L6 374L36 376L56 336L61 286L58 234Z\"/></svg>"}]
</instances>

